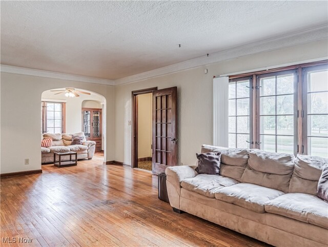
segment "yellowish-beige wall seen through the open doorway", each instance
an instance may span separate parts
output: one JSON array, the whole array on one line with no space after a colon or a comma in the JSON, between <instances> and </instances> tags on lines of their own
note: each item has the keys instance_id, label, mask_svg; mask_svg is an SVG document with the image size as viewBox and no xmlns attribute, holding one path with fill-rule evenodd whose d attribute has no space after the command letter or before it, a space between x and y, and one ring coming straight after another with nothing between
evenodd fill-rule
<instances>
[{"instance_id":1,"label":"yellowish-beige wall seen through the open doorway","mask_svg":"<svg viewBox=\"0 0 328 247\"><path fill-rule=\"evenodd\" d=\"M152 157L152 93L138 98L138 158Z\"/></svg>"}]
</instances>

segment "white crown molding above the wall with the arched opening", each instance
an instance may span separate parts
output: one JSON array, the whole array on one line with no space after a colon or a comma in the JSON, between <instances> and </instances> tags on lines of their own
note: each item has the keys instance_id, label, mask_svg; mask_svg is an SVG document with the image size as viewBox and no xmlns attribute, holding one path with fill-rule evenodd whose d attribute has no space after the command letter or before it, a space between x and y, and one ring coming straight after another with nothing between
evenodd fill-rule
<instances>
[{"instance_id":1,"label":"white crown molding above the wall with the arched opening","mask_svg":"<svg viewBox=\"0 0 328 247\"><path fill-rule=\"evenodd\" d=\"M28 69L28 68L15 67L9 65L1 65L0 68L1 68L1 72L6 72L6 73L33 75L33 76L49 77L49 78L63 79L63 80L74 80L74 81L81 81L84 83L105 84L111 86L115 85L114 80L101 79L96 77L64 74L64 73L57 73L57 72L46 71L46 70Z\"/></svg>"}]
</instances>

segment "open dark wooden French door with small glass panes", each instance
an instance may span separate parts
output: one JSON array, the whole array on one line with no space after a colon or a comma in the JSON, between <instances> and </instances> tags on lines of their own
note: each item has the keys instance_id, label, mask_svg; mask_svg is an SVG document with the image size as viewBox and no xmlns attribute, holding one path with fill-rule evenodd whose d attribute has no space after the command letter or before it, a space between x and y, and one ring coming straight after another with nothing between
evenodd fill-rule
<instances>
[{"instance_id":1,"label":"open dark wooden French door with small glass panes","mask_svg":"<svg viewBox=\"0 0 328 247\"><path fill-rule=\"evenodd\" d=\"M177 165L177 87L153 91L152 172Z\"/></svg>"}]
</instances>

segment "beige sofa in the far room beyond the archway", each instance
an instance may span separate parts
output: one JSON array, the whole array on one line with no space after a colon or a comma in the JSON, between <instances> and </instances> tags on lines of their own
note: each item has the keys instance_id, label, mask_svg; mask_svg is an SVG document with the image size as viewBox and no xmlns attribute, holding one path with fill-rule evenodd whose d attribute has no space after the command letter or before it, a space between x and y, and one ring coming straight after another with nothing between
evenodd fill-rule
<instances>
[{"instance_id":1,"label":"beige sofa in the far room beyond the archway","mask_svg":"<svg viewBox=\"0 0 328 247\"><path fill-rule=\"evenodd\" d=\"M83 137L83 145L71 145L72 135ZM77 159L92 159L95 151L95 141L86 140L84 132L75 134L50 134L45 133L42 138L52 138L52 146L49 148L41 148L41 162L42 164L54 162L54 152L69 152L74 151L77 153ZM62 160L68 160L69 156L63 156Z\"/></svg>"}]
</instances>

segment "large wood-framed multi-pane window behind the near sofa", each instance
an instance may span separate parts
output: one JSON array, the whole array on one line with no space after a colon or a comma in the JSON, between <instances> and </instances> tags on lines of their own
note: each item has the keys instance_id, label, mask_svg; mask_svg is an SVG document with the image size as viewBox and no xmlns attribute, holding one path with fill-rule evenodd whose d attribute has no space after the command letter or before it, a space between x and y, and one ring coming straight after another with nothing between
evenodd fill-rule
<instances>
[{"instance_id":1,"label":"large wood-framed multi-pane window behind the near sofa","mask_svg":"<svg viewBox=\"0 0 328 247\"><path fill-rule=\"evenodd\" d=\"M239 76L229 80L229 147L328 157L327 61Z\"/></svg>"}]
</instances>

